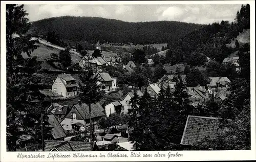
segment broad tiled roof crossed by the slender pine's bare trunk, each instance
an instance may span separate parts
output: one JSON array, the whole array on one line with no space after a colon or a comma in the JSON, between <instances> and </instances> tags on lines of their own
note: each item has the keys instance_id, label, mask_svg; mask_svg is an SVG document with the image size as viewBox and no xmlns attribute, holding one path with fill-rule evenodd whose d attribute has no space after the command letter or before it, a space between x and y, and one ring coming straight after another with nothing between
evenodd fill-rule
<instances>
[{"instance_id":1,"label":"broad tiled roof crossed by the slender pine's bare trunk","mask_svg":"<svg viewBox=\"0 0 256 162\"><path fill-rule=\"evenodd\" d=\"M74 105L77 111L81 114L81 117L84 119L89 119L89 106L87 104L76 104ZM102 117L104 109L99 103L91 105L91 118Z\"/></svg>"}]
</instances>

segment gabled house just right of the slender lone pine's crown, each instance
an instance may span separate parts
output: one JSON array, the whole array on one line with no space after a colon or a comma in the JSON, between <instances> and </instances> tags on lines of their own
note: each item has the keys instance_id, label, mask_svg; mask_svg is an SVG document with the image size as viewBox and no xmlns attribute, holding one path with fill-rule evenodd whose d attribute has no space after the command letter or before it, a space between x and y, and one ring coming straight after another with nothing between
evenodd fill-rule
<instances>
[{"instance_id":1,"label":"gabled house just right of the slender lone pine's crown","mask_svg":"<svg viewBox=\"0 0 256 162\"><path fill-rule=\"evenodd\" d=\"M111 78L109 73L98 73L96 77L98 78L98 83L101 84L102 90L105 90L105 91L112 90L114 79Z\"/></svg>"}]
</instances>

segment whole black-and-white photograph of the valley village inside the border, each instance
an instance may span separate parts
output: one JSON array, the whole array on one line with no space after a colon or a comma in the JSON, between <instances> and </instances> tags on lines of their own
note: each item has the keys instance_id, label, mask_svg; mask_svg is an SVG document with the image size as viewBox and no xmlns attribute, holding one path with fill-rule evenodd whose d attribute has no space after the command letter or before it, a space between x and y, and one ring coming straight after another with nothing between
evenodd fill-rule
<instances>
[{"instance_id":1,"label":"whole black-and-white photograph of the valley village inside the border","mask_svg":"<svg viewBox=\"0 0 256 162\"><path fill-rule=\"evenodd\" d=\"M252 149L246 1L15 3L1 15L7 153Z\"/></svg>"}]
</instances>

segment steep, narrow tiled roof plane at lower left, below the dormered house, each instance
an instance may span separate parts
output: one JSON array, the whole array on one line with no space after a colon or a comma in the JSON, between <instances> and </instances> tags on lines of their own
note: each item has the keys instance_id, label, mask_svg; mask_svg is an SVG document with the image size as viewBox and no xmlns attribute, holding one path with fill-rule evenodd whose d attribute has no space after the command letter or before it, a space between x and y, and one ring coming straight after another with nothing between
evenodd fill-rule
<instances>
[{"instance_id":1,"label":"steep, narrow tiled roof plane at lower left, below the dormered house","mask_svg":"<svg viewBox=\"0 0 256 162\"><path fill-rule=\"evenodd\" d=\"M66 137L65 131L62 128L62 126L60 125L58 119L55 117L54 114L50 114L48 115L49 119L49 123L51 124L50 127L52 127L51 129L51 133L54 139L58 139L58 138L62 138L62 137Z\"/></svg>"}]
</instances>

